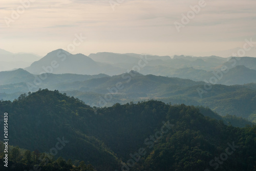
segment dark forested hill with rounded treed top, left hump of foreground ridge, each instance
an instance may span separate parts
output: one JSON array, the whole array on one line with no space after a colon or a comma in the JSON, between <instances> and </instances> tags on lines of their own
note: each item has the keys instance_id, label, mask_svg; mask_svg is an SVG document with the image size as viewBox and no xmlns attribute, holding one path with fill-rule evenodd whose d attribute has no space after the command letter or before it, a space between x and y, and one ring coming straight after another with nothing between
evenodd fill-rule
<instances>
[{"instance_id":1,"label":"dark forested hill with rounded treed top, left hump of foreground ridge","mask_svg":"<svg viewBox=\"0 0 256 171\"><path fill-rule=\"evenodd\" d=\"M118 165L118 159L102 141L85 134L93 127L89 120L95 114L74 97L41 90L28 97L22 95L13 103L3 102L0 108L13 118L8 121L12 145L55 154L50 149L60 142L64 147L57 156L88 161L99 170L112 170Z\"/></svg>"}]
</instances>

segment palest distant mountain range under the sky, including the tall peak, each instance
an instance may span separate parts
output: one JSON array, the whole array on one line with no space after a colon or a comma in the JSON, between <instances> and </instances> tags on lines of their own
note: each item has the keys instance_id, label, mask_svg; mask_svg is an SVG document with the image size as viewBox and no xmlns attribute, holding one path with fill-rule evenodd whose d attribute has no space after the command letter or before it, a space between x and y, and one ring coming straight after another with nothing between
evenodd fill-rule
<instances>
[{"instance_id":1,"label":"palest distant mountain range under the sky, including the tall peak","mask_svg":"<svg viewBox=\"0 0 256 171\"><path fill-rule=\"evenodd\" d=\"M239 67L239 66L244 67ZM256 82L256 58L217 56L153 56L146 54L97 53L89 56L70 54L55 50L26 67L32 74L51 72L52 74L119 75L125 71L137 70L141 74L178 77L194 81L208 81L217 77L215 84L233 85Z\"/></svg>"}]
</instances>

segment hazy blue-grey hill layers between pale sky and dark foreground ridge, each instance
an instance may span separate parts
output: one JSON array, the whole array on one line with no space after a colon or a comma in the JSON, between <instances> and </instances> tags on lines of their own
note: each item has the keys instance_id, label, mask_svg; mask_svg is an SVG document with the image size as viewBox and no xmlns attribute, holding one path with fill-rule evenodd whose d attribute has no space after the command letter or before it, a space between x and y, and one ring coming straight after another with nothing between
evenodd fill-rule
<instances>
[{"instance_id":1,"label":"hazy blue-grey hill layers between pale sky and dark foreground ridge","mask_svg":"<svg viewBox=\"0 0 256 171\"><path fill-rule=\"evenodd\" d=\"M234 114L254 120L256 109L249 98L253 99L250 95L255 89L249 83L256 83L255 59L115 53L85 56L59 49L25 70L0 72L0 99L14 100L19 93L48 88L100 107L158 99L166 103L209 106L223 116ZM205 82L213 88L203 91L201 99L198 88L204 90ZM110 101L105 100L106 94L112 95ZM249 108L238 108L242 105L235 105L237 100L248 103Z\"/></svg>"}]
</instances>

